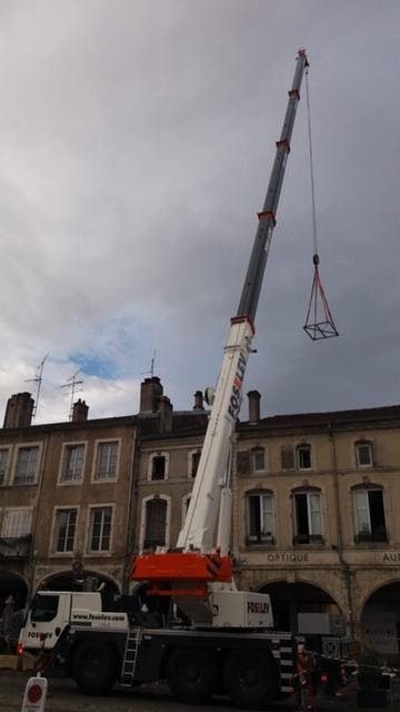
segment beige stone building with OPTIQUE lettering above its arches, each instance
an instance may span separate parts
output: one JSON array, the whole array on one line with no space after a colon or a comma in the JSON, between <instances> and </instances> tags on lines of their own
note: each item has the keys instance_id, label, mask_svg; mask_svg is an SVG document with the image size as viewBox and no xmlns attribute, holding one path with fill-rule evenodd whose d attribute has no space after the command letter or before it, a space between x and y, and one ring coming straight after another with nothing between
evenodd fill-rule
<instances>
[{"instance_id":1,"label":"beige stone building with OPTIQUE lettering above its arches","mask_svg":"<svg viewBox=\"0 0 400 712\"><path fill-rule=\"evenodd\" d=\"M241 585L270 592L283 627L339 612L398 654L400 407L242 423L236 463Z\"/></svg>"}]
</instances>

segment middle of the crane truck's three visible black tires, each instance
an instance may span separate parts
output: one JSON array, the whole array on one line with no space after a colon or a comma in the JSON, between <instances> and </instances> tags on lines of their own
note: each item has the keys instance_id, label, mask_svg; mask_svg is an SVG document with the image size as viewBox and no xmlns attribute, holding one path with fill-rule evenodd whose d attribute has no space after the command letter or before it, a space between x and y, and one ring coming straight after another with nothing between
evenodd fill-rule
<instances>
[{"instance_id":1,"label":"middle of the crane truck's three visible black tires","mask_svg":"<svg viewBox=\"0 0 400 712\"><path fill-rule=\"evenodd\" d=\"M207 702L217 684L213 654L208 650L177 647L167 663L167 680L172 694L180 702Z\"/></svg>"}]
</instances>

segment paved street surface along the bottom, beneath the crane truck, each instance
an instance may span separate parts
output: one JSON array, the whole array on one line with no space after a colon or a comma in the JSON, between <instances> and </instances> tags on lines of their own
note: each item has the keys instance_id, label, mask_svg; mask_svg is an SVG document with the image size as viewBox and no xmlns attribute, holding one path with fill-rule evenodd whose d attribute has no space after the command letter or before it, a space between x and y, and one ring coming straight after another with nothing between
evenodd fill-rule
<instances>
[{"instance_id":1,"label":"paved street surface along the bottom, beneath the crane truck","mask_svg":"<svg viewBox=\"0 0 400 712\"><path fill-rule=\"evenodd\" d=\"M0 712L20 712L24 685L31 673L0 671ZM318 698L314 712L356 712L354 690L342 698ZM398 698L398 695L396 695ZM400 699L389 708L400 712ZM109 696L92 698L78 692L69 680L49 680L46 712L238 712L227 700L218 699L209 705L187 705L172 700L163 685L143 685L137 690L116 689ZM291 712L292 701L269 708L270 712Z\"/></svg>"}]
</instances>

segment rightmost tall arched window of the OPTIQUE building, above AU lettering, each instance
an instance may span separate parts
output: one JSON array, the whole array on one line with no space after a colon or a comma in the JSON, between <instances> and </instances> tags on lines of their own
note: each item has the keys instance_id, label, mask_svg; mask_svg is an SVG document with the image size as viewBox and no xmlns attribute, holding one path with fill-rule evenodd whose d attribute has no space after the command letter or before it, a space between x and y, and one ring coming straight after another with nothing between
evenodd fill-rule
<instances>
[{"instance_id":1,"label":"rightmost tall arched window of the OPTIQUE building, above AU lettering","mask_svg":"<svg viewBox=\"0 0 400 712\"><path fill-rule=\"evenodd\" d=\"M381 488L353 490L356 542L387 542Z\"/></svg>"}]
</instances>

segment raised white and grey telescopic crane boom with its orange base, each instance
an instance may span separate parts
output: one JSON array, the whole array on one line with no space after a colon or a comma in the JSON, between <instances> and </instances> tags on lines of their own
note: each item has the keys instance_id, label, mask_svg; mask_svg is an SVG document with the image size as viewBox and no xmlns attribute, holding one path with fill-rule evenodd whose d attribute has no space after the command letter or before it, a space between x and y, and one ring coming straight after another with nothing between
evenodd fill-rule
<instances>
[{"instance_id":1,"label":"raised white and grey telescopic crane boom with its orange base","mask_svg":"<svg viewBox=\"0 0 400 712\"><path fill-rule=\"evenodd\" d=\"M297 57L293 83L289 91L282 131L277 141L267 196L258 215L259 225L238 312L231 318L193 492L177 550L140 555L133 560L132 578L149 581L157 593L199 595L207 592L209 582L232 581L229 556L232 441L306 67L308 59L306 50L302 49Z\"/></svg>"}]
</instances>

